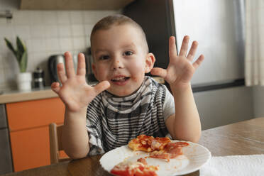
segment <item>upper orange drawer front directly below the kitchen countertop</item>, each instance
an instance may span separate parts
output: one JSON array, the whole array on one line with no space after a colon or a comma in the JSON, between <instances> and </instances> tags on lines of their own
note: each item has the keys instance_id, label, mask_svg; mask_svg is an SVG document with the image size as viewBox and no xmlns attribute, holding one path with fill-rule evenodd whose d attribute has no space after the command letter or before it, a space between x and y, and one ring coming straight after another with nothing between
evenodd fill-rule
<instances>
[{"instance_id":1,"label":"upper orange drawer front directly below the kitchen countertop","mask_svg":"<svg viewBox=\"0 0 264 176\"><path fill-rule=\"evenodd\" d=\"M59 98L6 104L9 131L63 123L65 106Z\"/></svg>"}]
</instances>

